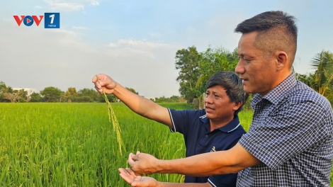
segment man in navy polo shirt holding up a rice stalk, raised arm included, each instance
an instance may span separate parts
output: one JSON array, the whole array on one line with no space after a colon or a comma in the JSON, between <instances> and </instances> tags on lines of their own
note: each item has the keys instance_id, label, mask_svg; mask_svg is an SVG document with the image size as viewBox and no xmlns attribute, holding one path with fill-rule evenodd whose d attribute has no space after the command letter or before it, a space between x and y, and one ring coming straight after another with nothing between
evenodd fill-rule
<instances>
[{"instance_id":1,"label":"man in navy polo shirt holding up a rice stalk, raised arm included","mask_svg":"<svg viewBox=\"0 0 333 187\"><path fill-rule=\"evenodd\" d=\"M242 80L234 72L218 72L210 77L206 86L205 109L197 111L164 108L124 89L106 75L98 74L98 79L100 84L95 77L93 82L99 92L103 87L106 93L120 98L135 113L168 125L171 132L182 133L186 144L186 157L231 149L245 133L237 113L246 102L247 94L244 92ZM128 172L131 171L120 169L120 175L125 178L130 174ZM130 180L126 181L130 183ZM186 184L173 183L173 186L236 186L236 181L237 173L186 176Z\"/></svg>"}]
</instances>

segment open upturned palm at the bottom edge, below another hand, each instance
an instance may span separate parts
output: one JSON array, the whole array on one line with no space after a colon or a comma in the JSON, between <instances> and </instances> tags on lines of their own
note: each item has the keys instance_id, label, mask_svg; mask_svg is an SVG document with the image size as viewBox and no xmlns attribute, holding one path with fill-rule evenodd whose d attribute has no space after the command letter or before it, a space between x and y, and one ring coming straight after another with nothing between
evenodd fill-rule
<instances>
[{"instance_id":1,"label":"open upturned palm at the bottom edge, below another hand","mask_svg":"<svg viewBox=\"0 0 333 187\"><path fill-rule=\"evenodd\" d=\"M147 177L147 176L136 176L132 170L129 168L123 169L120 168L118 169L120 172L121 178L124 179L127 183L130 184L130 186L135 186L135 187L157 187L158 186L158 181L156 181L152 177Z\"/></svg>"}]
</instances>

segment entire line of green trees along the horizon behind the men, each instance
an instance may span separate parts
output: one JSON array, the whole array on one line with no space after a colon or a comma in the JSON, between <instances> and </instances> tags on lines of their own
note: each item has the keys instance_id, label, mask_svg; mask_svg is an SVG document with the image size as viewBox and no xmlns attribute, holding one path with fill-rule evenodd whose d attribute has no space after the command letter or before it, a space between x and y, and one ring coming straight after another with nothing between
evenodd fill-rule
<instances>
[{"instance_id":1,"label":"entire line of green trees along the horizon behind the men","mask_svg":"<svg viewBox=\"0 0 333 187\"><path fill-rule=\"evenodd\" d=\"M166 98L152 98L153 101L163 102L187 102L194 104L194 108L202 106L203 96L205 93L205 84L208 79L216 72L235 71L239 61L237 48L232 52L225 50L223 47L208 47L203 52L198 52L195 46L181 49L176 52L175 67L179 70L179 76L176 81L179 82L180 96L171 96ZM326 97L333 103L333 53L322 51L312 58L310 66L314 70L307 74L295 73L298 80L303 81L312 89L322 96ZM139 94L132 88L126 88L135 94ZM116 102L118 99L113 94L108 94L108 100ZM244 108L249 106L252 95ZM0 82L0 102L105 102L103 96L95 89L68 88L67 91L61 91L55 87L47 87L40 93L33 93L28 96L24 90L13 90L11 86Z\"/></svg>"}]
</instances>

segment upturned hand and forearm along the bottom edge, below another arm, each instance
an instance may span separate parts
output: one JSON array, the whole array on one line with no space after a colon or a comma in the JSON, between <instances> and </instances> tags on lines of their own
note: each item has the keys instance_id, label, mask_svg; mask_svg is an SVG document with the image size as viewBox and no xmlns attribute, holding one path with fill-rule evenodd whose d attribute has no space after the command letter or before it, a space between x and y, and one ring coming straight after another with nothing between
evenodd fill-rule
<instances>
[{"instance_id":1,"label":"upturned hand and forearm along the bottom edge, below another arm","mask_svg":"<svg viewBox=\"0 0 333 187\"><path fill-rule=\"evenodd\" d=\"M166 183L148 176L135 176L129 168L118 169L120 176L131 186L136 187L211 187L209 183Z\"/></svg>"}]
</instances>

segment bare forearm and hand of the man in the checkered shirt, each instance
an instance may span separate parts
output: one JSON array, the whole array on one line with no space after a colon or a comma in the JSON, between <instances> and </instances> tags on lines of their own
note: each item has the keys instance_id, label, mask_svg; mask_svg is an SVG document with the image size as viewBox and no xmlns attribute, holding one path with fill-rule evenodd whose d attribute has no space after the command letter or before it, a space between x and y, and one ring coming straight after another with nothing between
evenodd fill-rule
<instances>
[{"instance_id":1,"label":"bare forearm and hand of the man in the checkered shirt","mask_svg":"<svg viewBox=\"0 0 333 187\"><path fill-rule=\"evenodd\" d=\"M208 152L192 157L174 160L159 160L150 154L130 153L128 163L135 174L184 174L189 176L210 176L235 174L242 169L261 164L239 143L226 151Z\"/></svg>"}]
</instances>

